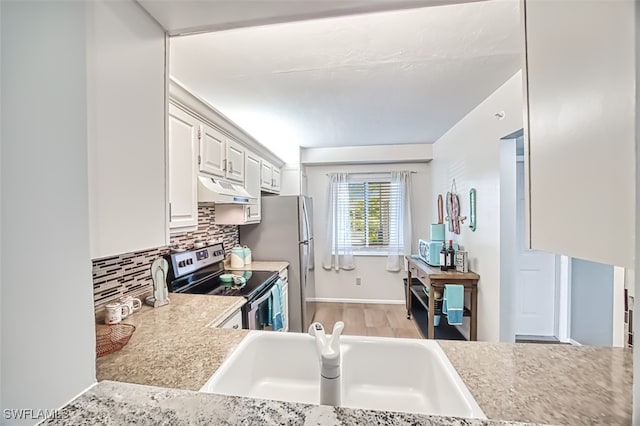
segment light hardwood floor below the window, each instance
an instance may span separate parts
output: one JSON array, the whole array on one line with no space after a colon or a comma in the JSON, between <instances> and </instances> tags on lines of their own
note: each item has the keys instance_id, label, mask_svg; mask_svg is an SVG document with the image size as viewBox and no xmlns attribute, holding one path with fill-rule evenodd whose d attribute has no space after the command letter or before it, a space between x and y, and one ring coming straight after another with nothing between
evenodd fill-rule
<instances>
[{"instance_id":1,"label":"light hardwood floor below the window","mask_svg":"<svg viewBox=\"0 0 640 426\"><path fill-rule=\"evenodd\" d=\"M342 334L422 339L414 322L407 319L404 305L317 302L313 321L320 322L327 333L336 321L343 321Z\"/></svg>"}]
</instances>

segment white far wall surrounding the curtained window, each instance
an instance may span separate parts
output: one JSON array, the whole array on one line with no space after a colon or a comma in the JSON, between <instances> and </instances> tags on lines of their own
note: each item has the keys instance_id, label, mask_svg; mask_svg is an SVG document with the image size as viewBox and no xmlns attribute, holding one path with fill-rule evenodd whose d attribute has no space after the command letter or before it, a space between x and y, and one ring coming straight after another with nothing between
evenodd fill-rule
<instances>
[{"instance_id":1,"label":"white far wall surrounding the curtained window","mask_svg":"<svg viewBox=\"0 0 640 426\"><path fill-rule=\"evenodd\" d=\"M343 166L307 166L308 195L313 197L314 235L316 238L316 265L322 265L322 247L325 246L328 203L328 178L331 172L387 172L415 170L411 176L413 188L413 252L417 252L417 239L429 236L431 224L430 166L427 163L376 164ZM356 256L355 270L327 271L316 267L316 297L336 301L404 302L402 278L406 272L388 272L384 256ZM356 285L356 277L362 284Z\"/></svg>"}]
</instances>

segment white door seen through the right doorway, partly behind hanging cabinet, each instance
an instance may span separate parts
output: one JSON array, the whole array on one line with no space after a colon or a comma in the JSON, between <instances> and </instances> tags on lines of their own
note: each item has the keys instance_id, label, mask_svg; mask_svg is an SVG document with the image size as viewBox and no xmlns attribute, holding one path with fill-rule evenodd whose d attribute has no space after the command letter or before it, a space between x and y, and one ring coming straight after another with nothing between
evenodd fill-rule
<instances>
[{"instance_id":1,"label":"white door seen through the right doorway, partly behind hanging cabinet","mask_svg":"<svg viewBox=\"0 0 640 426\"><path fill-rule=\"evenodd\" d=\"M524 243L524 163L516 169L516 244L518 246L515 297L515 333L555 336L556 256L530 250Z\"/></svg>"}]
</instances>

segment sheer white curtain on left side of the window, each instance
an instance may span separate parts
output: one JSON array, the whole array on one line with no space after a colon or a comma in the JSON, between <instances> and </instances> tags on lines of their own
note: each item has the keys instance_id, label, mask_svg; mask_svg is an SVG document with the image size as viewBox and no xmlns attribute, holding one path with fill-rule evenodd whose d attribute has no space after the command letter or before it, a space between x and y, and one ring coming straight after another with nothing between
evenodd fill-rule
<instances>
[{"instance_id":1,"label":"sheer white curtain on left side of the window","mask_svg":"<svg viewBox=\"0 0 640 426\"><path fill-rule=\"evenodd\" d=\"M351 220L349 218L349 183L346 173L329 174L329 206L327 211L326 244L323 247L324 269L355 268L351 246Z\"/></svg>"}]
</instances>

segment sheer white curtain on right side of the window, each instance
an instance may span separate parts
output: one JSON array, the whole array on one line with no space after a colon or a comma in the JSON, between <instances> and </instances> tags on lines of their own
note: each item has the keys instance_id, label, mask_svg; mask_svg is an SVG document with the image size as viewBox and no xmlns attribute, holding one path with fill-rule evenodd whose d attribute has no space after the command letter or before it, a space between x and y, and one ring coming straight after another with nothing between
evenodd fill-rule
<instances>
[{"instance_id":1,"label":"sheer white curtain on right side of the window","mask_svg":"<svg viewBox=\"0 0 640 426\"><path fill-rule=\"evenodd\" d=\"M391 172L391 214L387 271L400 271L411 254L411 172Z\"/></svg>"}]
</instances>

